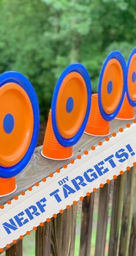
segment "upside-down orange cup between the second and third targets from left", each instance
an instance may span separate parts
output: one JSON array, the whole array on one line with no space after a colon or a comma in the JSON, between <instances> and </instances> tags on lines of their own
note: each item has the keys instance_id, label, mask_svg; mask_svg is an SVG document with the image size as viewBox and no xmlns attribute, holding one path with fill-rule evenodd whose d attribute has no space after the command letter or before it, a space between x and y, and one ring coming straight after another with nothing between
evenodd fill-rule
<instances>
[{"instance_id":1,"label":"upside-down orange cup between the second and third targets from left","mask_svg":"<svg viewBox=\"0 0 136 256\"><path fill-rule=\"evenodd\" d=\"M107 136L109 134L109 122L101 116L97 93L92 94L89 119L84 133L92 136Z\"/></svg>"}]
</instances>

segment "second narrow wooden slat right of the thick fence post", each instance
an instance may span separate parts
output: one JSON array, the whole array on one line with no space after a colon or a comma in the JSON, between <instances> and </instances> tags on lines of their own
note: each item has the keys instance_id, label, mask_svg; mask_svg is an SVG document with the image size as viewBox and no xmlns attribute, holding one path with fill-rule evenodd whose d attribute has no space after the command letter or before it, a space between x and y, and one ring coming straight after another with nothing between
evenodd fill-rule
<instances>
[{"instance_id":1,"label":"second narrow wooden slat right of the thick fence post","mask_svg":"<svg viewBox=\"0 0 136 256\"><path fill-rule=\"evenodd\" d=\"M104 256L105 254L109 190L110 190L109 184L105 184L104 188L100 188L99 190L99 209L98 209L98 220L97 220L95 256Z\"/></svg>"}]
</instances>

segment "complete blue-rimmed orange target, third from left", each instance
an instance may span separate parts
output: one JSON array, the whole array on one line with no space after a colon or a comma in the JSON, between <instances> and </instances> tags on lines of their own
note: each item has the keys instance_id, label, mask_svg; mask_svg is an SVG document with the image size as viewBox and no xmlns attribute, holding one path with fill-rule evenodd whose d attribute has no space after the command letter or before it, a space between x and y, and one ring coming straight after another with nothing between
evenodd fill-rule
<instances>
[{"instance_id":1,"label":"complete blue-rimmed orange target, third from left","mask_svg":"<svg viewBox=\"0 0 136 256\"><path fill-rule=\"evenodd\" d=\"M115 118L126 90L126 62L120 52L106 58L99 78L98 100L101 115L107 121Z\"/></svg>"}]
</instances>

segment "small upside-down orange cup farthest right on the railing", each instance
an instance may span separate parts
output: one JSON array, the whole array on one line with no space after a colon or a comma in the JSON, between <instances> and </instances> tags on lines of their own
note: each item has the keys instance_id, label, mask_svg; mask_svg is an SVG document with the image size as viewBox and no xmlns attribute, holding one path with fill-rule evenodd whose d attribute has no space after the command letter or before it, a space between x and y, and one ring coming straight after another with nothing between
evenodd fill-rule
<instances>
[{"instance_id":1,"label":"small upside-down orange cup farthest right on the railing","mask_svg":"<svg viewBox=\"0 0 136 256\"><path fill-rule=\"evenodd\" d=\"M129 104L126 94L124 96L122 107L120 108L120 111L119 111L118 115L116 116L116 119L121 119L121 120L134 119L134 107L132 107Z\"/></svg>"}]
</instances>

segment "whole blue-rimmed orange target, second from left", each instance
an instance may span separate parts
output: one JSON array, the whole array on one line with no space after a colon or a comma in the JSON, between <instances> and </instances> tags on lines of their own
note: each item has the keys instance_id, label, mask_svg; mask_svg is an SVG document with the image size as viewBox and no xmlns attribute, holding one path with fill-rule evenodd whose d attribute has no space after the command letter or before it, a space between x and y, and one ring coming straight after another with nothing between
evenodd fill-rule
<instances>
[{"instance_id":1,"label":"whole blue-rimmed orange target, second from left","mask_svg":"<svg viewBox=\"0 0 136 256\"><path fill-rule=\"evenodd\" d=\"M84 133L90 100L88 71L79 63L69 65L56 83L51 105L54 134L64 147L74 145Z\"/></svg>"}]
</instances>

